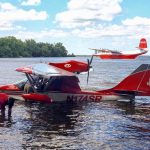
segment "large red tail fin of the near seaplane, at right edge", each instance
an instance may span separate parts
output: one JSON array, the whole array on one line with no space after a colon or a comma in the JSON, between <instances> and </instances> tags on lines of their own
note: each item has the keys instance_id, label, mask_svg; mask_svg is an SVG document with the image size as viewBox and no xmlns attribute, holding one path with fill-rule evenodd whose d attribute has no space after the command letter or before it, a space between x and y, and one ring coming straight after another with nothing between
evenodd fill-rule
<instances>
[{"instance_id":1,"label":"large red tail fin of the near seaplane, at right edge","mask_svg":"<svg viewBox=\"0 0 150 150\"><path fill-rule=\"evenodd\" d=\"M150 64L142 64L113 88L116 92L134 92L139 96L150 96Z\"/></svg>"}]
</instances>

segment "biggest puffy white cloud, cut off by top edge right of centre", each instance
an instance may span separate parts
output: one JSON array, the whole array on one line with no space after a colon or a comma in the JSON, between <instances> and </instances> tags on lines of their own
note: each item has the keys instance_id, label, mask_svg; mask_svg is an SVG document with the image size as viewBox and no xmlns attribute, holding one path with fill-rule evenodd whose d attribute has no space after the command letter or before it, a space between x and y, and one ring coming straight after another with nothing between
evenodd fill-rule
<instances>
[{"instance_id":1,"label":"biggest puffy white cloud, cut off by top edge right of centre","mask_svg":"<svg viewBox=\"0 0 150 150\"><path fill-rule=\"evenodd\" d=\"M122 0L70 0L68 10L56 15L61 27L84 27L96 21L112 21L121 13Z\"/></svg>"}]
</instances>

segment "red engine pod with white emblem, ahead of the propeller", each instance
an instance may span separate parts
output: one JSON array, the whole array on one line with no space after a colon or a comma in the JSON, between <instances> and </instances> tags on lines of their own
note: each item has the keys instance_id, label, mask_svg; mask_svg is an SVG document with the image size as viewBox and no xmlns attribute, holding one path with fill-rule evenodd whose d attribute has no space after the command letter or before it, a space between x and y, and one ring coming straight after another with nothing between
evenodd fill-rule
<instances>
[{"instance_id":1,"label":"red engine pod with white emblem, ahead of the propeller","mask_svg":"<svg viewBox=\"0 0 150 150\"><path fill-rule=\"evenodd\" d=\"M49 65L64 69L70 72L87 72L88 71L88 64L85 62L70 60L62 63L49 63Z\"/></svg>"}]
</instances>

